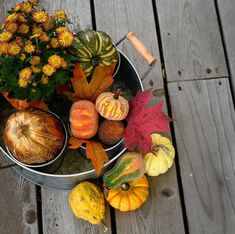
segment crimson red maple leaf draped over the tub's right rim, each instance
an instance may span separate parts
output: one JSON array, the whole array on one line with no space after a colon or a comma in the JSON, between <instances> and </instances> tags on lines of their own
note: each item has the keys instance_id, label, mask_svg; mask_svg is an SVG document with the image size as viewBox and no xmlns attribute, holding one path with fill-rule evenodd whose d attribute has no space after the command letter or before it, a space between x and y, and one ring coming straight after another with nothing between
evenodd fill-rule
<instances>
[{"instance_id":1,"label":"crimson red maple leaf draped over the tub's right rim","mask_svg":"<svg viewBox=\"0 0 235 234\"><path fill-rule=\"evenodd\" d=\"M152 97L151 89L138 92L130 101L130 111L127 116L127 127L122 136L125 138L125 146L129 150L136 147L143 153L151 150L151 134L154 132L169 131L171 119L162 111L163 101L146 107Z\"/></svg>"}]
</instances>

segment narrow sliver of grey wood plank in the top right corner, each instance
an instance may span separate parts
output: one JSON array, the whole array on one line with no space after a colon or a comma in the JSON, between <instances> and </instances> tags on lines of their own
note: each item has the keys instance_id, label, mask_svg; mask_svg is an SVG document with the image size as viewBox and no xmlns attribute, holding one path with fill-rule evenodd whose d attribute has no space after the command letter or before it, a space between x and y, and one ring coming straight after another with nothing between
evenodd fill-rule
<instances>
[{"instance_id":1,"label":"narrow sliver of grey wood plank in the top right corner","mask_svg":"<svg viewBox=\"0 0 235 234\"><path fill-rule=\"evenodd\" d=\"M231 84L233 92L235 92L235 1L217 0L217 4L224 36L225 50L228 56Z\"/></svg>"}]
</instances>

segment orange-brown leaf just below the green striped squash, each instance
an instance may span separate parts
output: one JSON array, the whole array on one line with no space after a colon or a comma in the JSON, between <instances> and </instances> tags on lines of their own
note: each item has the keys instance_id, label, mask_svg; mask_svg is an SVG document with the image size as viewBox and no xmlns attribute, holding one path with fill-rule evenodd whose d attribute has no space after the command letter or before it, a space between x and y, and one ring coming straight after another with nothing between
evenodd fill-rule
<instances>
[{"instance_id":1,"label":"orange-brown leaf just below the green striped squash","mask_svg":"<svg viewBox=\"0 0 235 234\"><path fill-rule=\"evenodd\" d=\"M81 65L77 63L73 69L73 78L71 78L74 92L64 92L64 94L71 101L86 99L94 102L101 93L112 85L112 74L115 66L116 64L110 66L97 66L91 81L88 82Z\"/></svg>"}]
</instances>

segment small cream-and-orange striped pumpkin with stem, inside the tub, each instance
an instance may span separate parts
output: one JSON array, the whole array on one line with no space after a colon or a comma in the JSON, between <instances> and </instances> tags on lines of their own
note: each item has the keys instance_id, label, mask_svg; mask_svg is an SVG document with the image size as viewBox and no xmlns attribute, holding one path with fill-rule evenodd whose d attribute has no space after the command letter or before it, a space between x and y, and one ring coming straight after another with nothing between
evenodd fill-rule
<instances>
[{"instance_id":1,"label":"small cream-and-orange striped pumpkin with stem, inside the tub","mask_svg":"<svg viewBox=\"0 0 235 234\"><path fill-rule=\"evenodd\" d=\"M95 103L96 110L101 116L108 120L123 120L129 112L128 101L120 94L118 90L115 94L112 92L101 93Z\"/></svg>"}]
</instances>

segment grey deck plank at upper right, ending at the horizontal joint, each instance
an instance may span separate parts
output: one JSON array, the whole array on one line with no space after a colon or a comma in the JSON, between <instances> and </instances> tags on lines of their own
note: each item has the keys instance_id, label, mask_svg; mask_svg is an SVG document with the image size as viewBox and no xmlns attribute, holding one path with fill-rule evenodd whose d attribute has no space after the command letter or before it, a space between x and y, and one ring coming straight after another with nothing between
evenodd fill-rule
<instances>
[{"instance_id":1,"label":"grey deck plank at upper right, ending at the horizontal joint","mask_svg":"<svg viewBox=\"0 0 235 234\"><path fill-rule=\"evenodd\" d=\"M214 0L157 0L168 81L228 76Z\"/></svg>"}]
</instances>

